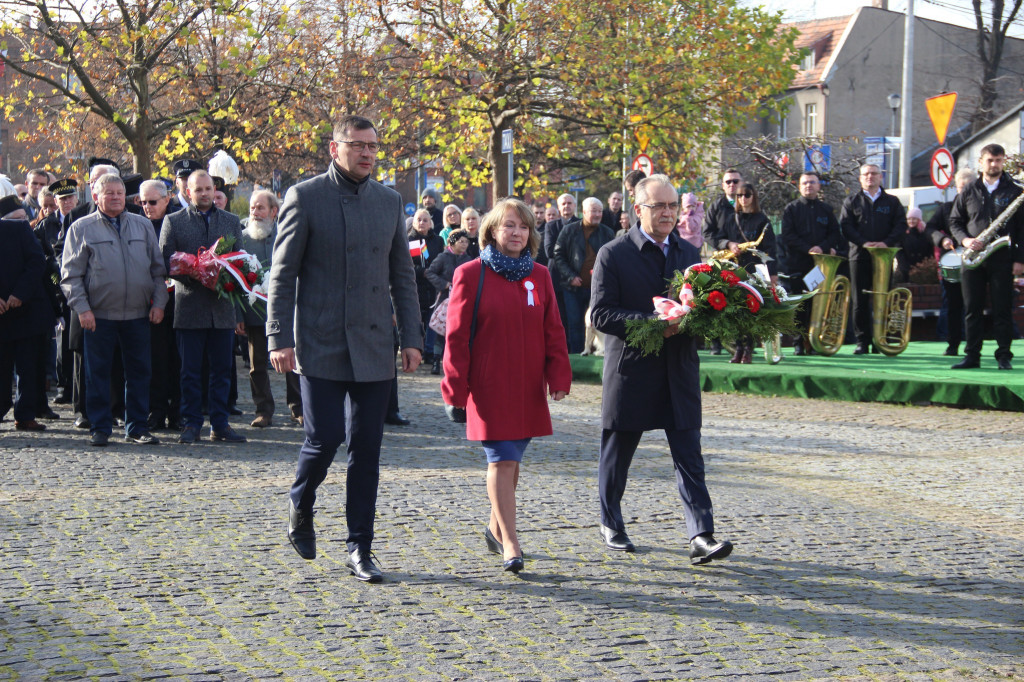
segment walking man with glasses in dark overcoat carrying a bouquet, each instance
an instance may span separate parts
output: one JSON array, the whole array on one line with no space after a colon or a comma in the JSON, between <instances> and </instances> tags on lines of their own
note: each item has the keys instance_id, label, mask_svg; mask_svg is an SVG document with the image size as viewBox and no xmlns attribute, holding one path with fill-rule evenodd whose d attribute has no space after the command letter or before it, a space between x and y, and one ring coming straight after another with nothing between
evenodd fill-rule
<instances>
[{"instance_id":1,"label":"walking man with glasses in dark overcoat carrying a bouquet","mask_svg":"<svg viewBox=\"0 0 1024 682\"><path fill-rule=\"evenodd\" d=\"M732 552L715 540L711 496L700 455L700 385L696 343L665 331L656 355L626 346L626 321L654 317L654 296L666 295L676 270L700 261L696 248L679 239L679 195L665 175L641 180L636 190L640 222L606 245L594 267L591 316L605 334L601 404L601 536L609 549L632 552L620 504L633 454L644 431L665 429L676 469L690 539L690 562L707 563Z\"/></svg>"}]
</instances>

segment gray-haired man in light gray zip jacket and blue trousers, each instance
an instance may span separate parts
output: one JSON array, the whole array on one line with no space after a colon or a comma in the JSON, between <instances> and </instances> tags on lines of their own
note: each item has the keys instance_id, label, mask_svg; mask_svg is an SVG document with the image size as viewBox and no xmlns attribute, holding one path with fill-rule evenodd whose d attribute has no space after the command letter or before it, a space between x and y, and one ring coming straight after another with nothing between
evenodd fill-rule
<instances>
[{"instance_id":1,"label":"gray-haired man in light gray zip jacket and blue trousers","mask_svg":"<svg viewBox=\"0 0 1024 682\"><path fill-rule=\"evenodd\" d=\"M76 220L65 240L60 287L84 330L85 383L92 444L113 430L111 372L120 344L125 375L125 437L155 443L148 431L150 323L164 318L167 273L157 236L145 218L125 210L116 173L92 183L96 211Z\"/></svg>"}]
</instances>

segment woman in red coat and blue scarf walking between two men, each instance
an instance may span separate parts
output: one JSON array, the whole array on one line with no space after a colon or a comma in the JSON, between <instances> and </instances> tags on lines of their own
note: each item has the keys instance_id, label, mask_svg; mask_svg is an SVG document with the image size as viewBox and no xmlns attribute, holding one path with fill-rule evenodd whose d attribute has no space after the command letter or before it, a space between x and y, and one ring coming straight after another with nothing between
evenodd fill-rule
<instances>
[{"instance_id":1,"label":"woman in red coat and blue scarf walking between two men","mask_svg":"<svg viewBox=\"0 0 1024 682\"><path fill-rule=\"evenodd\" d=\"M513 572L523 567L515 527L519 462L530 438L551 435L548 394L561 400L572 381L551 275L532 258L540 244L528 206L518 199L495 205L480 226L479 260L455 271L444 341L444 402L466 409L466 437L482 441L487 456L483 536Z\"/></svg>"}]
</instances>

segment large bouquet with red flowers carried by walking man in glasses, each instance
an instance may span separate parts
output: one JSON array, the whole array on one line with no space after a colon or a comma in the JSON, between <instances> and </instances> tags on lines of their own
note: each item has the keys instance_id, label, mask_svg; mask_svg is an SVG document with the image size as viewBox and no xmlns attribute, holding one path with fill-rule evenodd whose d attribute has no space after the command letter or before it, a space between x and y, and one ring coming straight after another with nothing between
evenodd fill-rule
<instances>
[{"instance_id":1,"label":"large bouquet with red flowers carried by walking man in glasses","mask_svg":"<svg viewBox=\"0 0 1024 682\"><path fill-rule=\"evenodd\" d=\"M788 296L764 274L715 259L676 271L669 292L672 298L654 298L657 317L626 322L626 343L644 355L662 350L664 332L677 319L680 332L708 339L793 334L797 308L814 296Z\"/></svg>"}]
</instances>

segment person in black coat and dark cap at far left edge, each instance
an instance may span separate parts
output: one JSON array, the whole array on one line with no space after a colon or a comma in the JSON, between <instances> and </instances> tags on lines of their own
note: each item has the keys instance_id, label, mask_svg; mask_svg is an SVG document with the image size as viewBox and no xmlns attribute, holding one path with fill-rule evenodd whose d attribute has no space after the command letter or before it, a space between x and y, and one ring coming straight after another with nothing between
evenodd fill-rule
<instances>
[{"instance_id":1,"label":"person in black coat and dark cap at far left edge","mask_svg":"<svg viewBox=\"0 0 1024 682\"><path fill-rule=\"evenodd\" d=\"M43 250L24 217L17 195L0 199L0 420L13 406L15 429L42 431L46 427L36 421L42 389L38 377L54 319L43 289ZM15 372L17 395L11 401Z\"/></svg>"}]
</instances>

